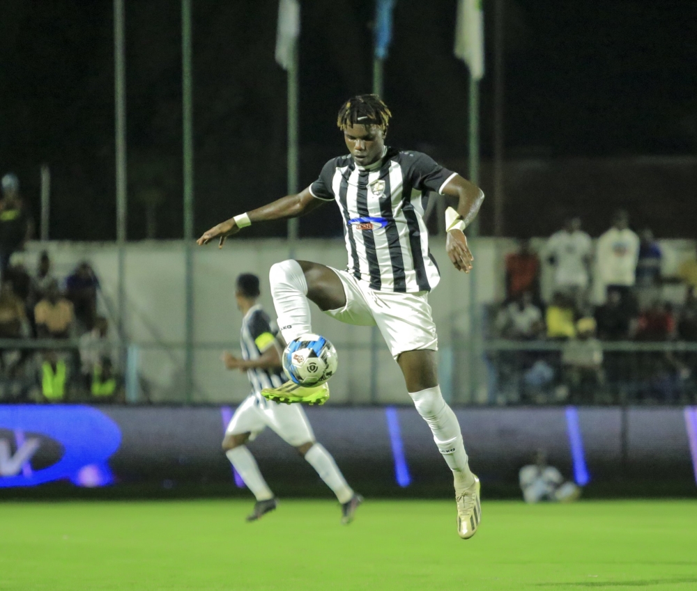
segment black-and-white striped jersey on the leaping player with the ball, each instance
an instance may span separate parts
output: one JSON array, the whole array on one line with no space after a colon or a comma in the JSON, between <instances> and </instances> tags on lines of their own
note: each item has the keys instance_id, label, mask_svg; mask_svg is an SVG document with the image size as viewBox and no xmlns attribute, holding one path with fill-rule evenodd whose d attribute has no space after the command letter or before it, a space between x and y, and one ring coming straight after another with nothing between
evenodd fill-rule
<instances>
[{"instance_id":1,"label":"black-and-white striped jersey on the leaping player with the ball","mask_svg":"<svg viewBox=\"0 0 697 591\"><path fill-rule=\"evenodd\" d=\"M422 197L442 194L455 174L421 152L386 148L370 166L357 166L351 155L328 161L309 190L317 199L336 200L342 211L348 272L374 290L413 293L441 279Z\"/></svg>"}]
</instances>

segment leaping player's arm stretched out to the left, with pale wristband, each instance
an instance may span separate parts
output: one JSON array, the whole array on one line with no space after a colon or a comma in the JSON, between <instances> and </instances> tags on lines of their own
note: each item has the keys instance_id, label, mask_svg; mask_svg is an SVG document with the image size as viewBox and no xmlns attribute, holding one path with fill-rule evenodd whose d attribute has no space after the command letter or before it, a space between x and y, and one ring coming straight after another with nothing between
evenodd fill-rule
<instances>
[{"instance_id":1,"label":"leaping player's arm stretched out to the left, with pale wristband","mask_svg":"<svg viewBox=\"0 0 697 591\"><path fill-rule=\"evenodd\" d=\"M287 195L246 214L231 217L204 232L196 242L199 246L202 246L217 238L219 239L218 248L222 249L225 239L238 233L240 228L260 221L273 221L302 216L312 210L316 210L323 203L325 203L323 200L314 198L312 193L309 192L309 187L307 187L307 189L300 191L297 195Z\"/></svg>"}]
</instances>

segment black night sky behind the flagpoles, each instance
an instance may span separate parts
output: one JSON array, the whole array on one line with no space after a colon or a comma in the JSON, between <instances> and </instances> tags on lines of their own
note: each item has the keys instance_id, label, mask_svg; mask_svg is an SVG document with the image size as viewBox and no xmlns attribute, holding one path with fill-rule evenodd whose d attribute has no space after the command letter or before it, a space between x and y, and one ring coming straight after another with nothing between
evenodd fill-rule
<instances>
[{"instance_id":1,"label":"black night sky behind the flagpoles","mask_svg":"<svg viewBox=\"0 0 697 591\"><path fill-rule=\"evenodd\" d=\"M273 57L275 0L193 5L199 232L284 194L286 83ZM696 152L697 1L507 0L506 8L508 155ZM156 235L181 237L179 10L176 0L126 1L132 239L146 235L148 200L158 203ZM339 105L370 90L372 11L372 0L302 0L303 185L344 152ZM467 145L454 14L455 0L398 0L385 70L390 143L446 161L464 158ZM39 166L49 163L56 239L115 236L112 15L110 0L0 1L0 171L20 175L38 216ZM493 67L485 18L484 158ZM340 231L335 216L322 220L322 233ZM302 231L318 225L303 220Z\"/></svg>"}]
</instances>

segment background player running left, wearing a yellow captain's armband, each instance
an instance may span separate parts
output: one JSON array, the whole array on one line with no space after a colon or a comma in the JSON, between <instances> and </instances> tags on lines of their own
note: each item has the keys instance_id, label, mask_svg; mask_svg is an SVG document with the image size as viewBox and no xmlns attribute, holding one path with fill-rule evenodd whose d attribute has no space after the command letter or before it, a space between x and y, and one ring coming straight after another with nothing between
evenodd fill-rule
<instances>
[{"instance_id":1,"label":"background player running left, wearing a yellow captain's armband","mask_svg":"<svg viewBox=\"0 0 697 591\"><path fill-rule=\"evenodd\" d=\"M256 521L273 511L277 502L263 479L254 456L245 443L252 441L265 427L270 427L281 439L296 448L300 455L317 471L342 505L342 523L351 523L362 497L346 484L344 476L330 453L314 439L300 404L278 404L261 395L263 388L281 386L285 381L277 342L278 330L261 309L259 277L242 274L237 278L235 293L237 306L243 314L240 345L242 358L225 352L223 361L229 370L246 371L252 393L237 407L225 430L222 448L231 464L256 497L254 510L247 521Z\"/></svg>"}]
</instances>

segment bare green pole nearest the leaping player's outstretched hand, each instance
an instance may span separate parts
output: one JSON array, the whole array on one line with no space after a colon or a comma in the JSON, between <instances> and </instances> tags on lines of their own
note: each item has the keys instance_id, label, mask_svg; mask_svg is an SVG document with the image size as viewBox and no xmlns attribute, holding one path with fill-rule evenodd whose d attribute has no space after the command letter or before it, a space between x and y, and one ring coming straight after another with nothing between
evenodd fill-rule
<instances>
[{"instance_id":1,"label":"bare green pole nearest the leaping player's outstretched hand","mask_svg":"<svg viewBox=\"0 0 697 591\"><path fill-rule=\"evenodd\" d=\"M185 252L185 402L194 393L194 136L191 58L191 0L181 0L181 65L184 160L184 252Z\"/></svg>"}]
</instances>

